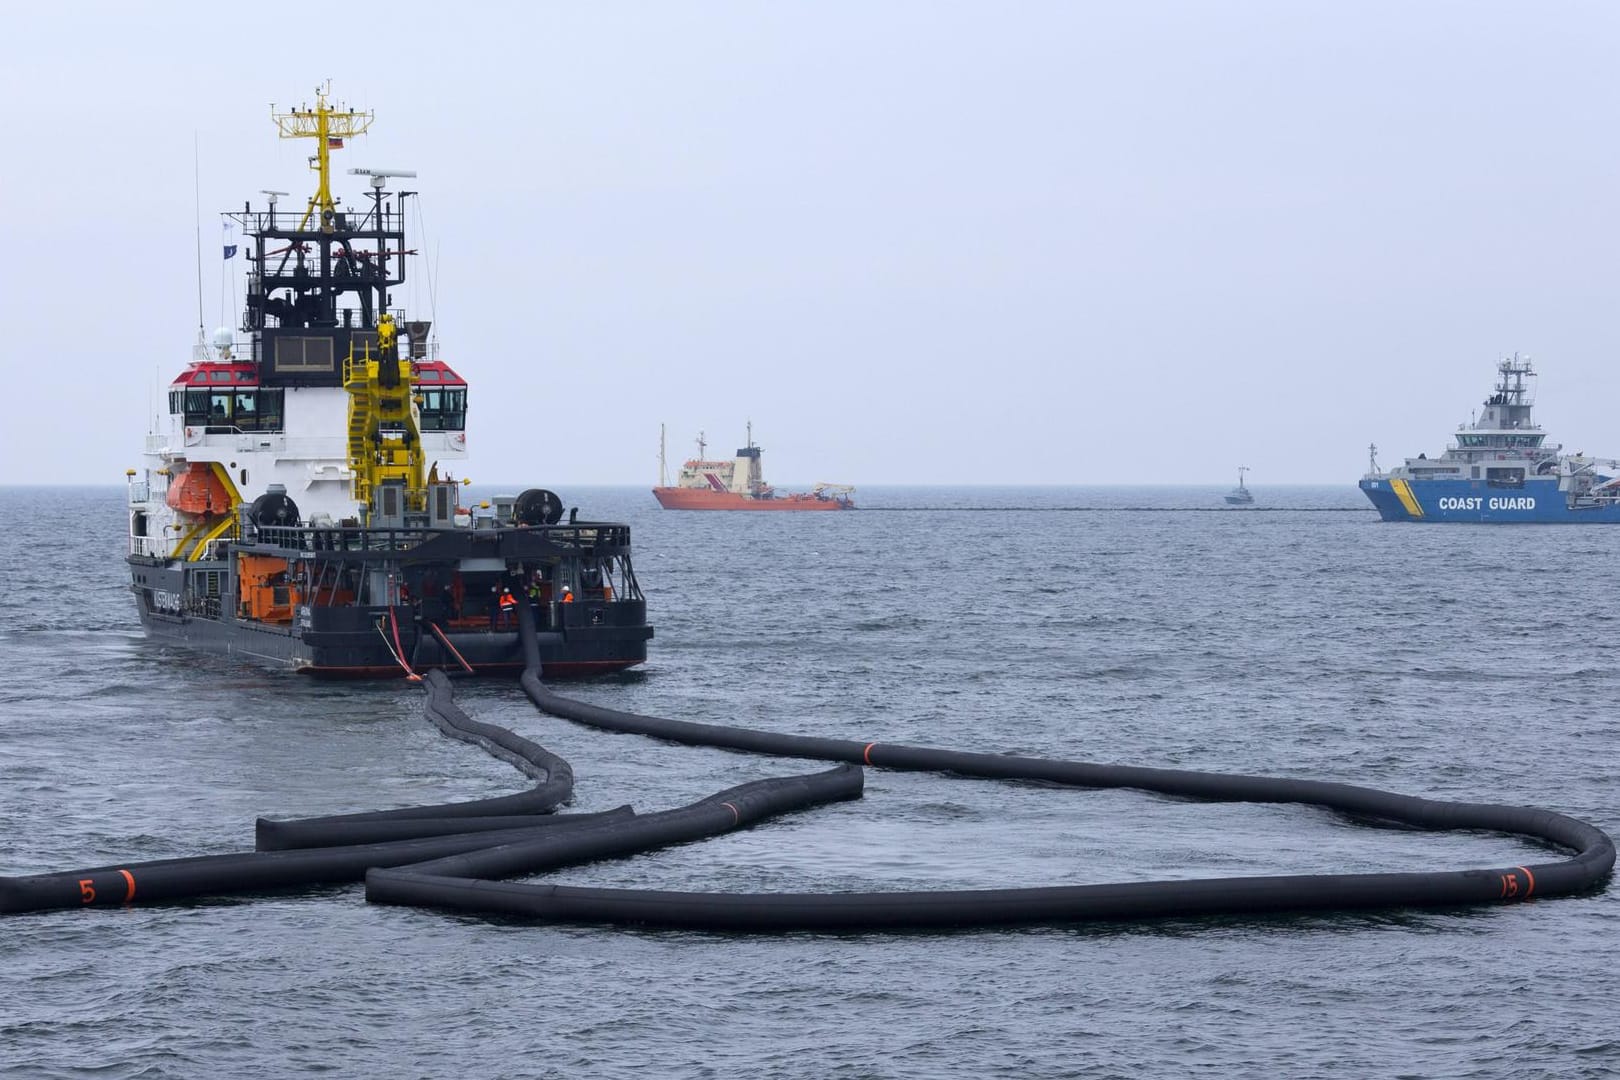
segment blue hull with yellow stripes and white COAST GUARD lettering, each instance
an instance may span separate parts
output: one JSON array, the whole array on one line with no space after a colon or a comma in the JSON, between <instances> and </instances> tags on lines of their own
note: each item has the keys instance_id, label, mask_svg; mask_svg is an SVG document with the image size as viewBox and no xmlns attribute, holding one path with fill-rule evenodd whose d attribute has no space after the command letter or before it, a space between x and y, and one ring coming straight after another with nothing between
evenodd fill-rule
<instances>
[{"instance_id":1,"label":"blue hull with yellow stripes and white COAST GUARD lettering","mask_svg":"<svg viewBox=\"0 0 1620 1080\"><path fill-rule=\"evenodd\" d=\"M1482 479L1362 479L1379 517L1385 521L1463 521L1469 525L1516 523L1620 523L1620 504L1570 508L1555 476L1531 478L1523 487L1494 487Z\"/></svg>"}]
</instances>

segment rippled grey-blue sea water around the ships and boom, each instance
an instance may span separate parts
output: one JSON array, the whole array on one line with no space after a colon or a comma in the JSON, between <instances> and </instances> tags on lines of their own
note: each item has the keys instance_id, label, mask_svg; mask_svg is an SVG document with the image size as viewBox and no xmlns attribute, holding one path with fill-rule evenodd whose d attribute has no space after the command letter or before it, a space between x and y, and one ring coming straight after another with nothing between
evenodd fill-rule
<instances>
[{"instance_id":1,"label":"rippled grey-blue sea water around the ships and boom","mask_svg":"<svg viewBox=\"0 0 1620 1080\"><path fill-rule=\"evenodd\" d=\"M629 521L658 636L567 693L842 738L1531 803L1620 834L1620 529L1382 525L1353 486L863 489ZM403 683L147 643L122 489L0 489L0 873L246 850L256 816L520 790ZM825 767L609 735L510 682L578 810ZM868 771L859 801L564 884L962 889L1500 866L1489 834ZM1620 895L985 933L544 926L360 886L0 920L18 1077L1609 1077Z\"/></svg>"}]
</instances>

